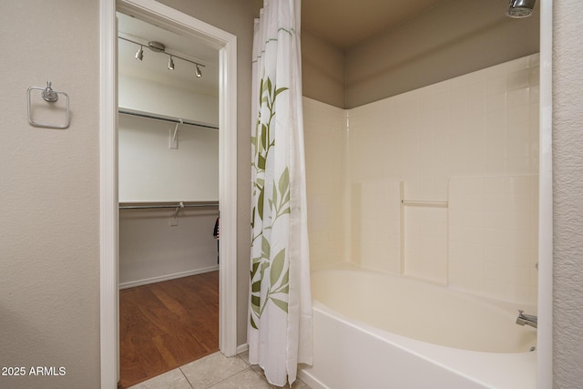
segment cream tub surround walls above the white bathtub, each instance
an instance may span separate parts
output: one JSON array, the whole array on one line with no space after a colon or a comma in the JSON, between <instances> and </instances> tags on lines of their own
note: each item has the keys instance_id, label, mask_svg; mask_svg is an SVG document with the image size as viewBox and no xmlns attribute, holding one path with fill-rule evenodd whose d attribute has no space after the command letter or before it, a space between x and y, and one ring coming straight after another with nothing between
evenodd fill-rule
<instances>
[{"instance_id":1,"label":"cream tub surround walls above the white bathtub","mask_svg":"<svg viewBox=\"0 0 583 389\"><path fill-rule=\"evenodd\" d=\"M311 140L306 141L308 171L314 169L314 160L330 162L331 152L336 153L332 174L344 177L339 169L347 169L343 196L350 199L352 194L360 193L362 197L363 188L372 196L380 190L373 189L377 183L402 181L404 200L453 200L454 209L448 210L440 206L401 207L399 198L388 192L366 199L366 207L371 207L368 214L373 214L373 209L378 213L401 207L404 241L400 250L405 275L443 284L451 281L455 287L495 299L536 302L537 277L533 270L537 262L537 230L533 220L537 220L538 55L347 111L332 111L322 103L304 101L304 110L320 115L305 125L306 139ZM347 127L338 118L342 112L348 118ZM331 138L309 138L311 132L324 127L333 134L346 134L337 135L332 144ZM322 149L333 151L322 153ZM342 156L340 150L346 150L346 154ZM331 173L322 170L312 174L309 197L314 195L316 185L332 193L327 174ZM322 182L316 184L315 179ZM470 206L474 213L460 217L459 207L476 200L476 193L464 190L464 185L472 188L478 184L486 189L485 198ZM353 185L360 186L360 192L354 191ZM337 184L334 189L342 186ZM339 197L341 192L336 193ZM348 204L358 205L362 200L350 199ZM351 256L332 255L326 260L318 254L314 256L316 266L330 261L355 261L375 270L398 272L394 262L388 260L389 249L385 245L392 239L388 229L380 227L375 233L386 233L377 235L377 239L367 236L365 241L371 241L363 244L371 220L363 223L364 215L359 215L358 210L347 215L342 204L327 204L325 212L355 218L344 221L352 229L351 235L346 235L352 236L348 240L353 246L348 251ZM321 203L312 201L309 206L311 218L323 212ZM526 218L516 220L511 234L511 226L505 224L509 215ZM319 230L335 228L332 219L317 220ZM473 247L477 251L462 259L471 245L464 238L468 228L477 229ZM494 241L486 244L489 237ZM323 247L322 235L311 230L310 238L312 247ZM373 242L377 240L384 243Z\"/></svg>"}]
</instances>

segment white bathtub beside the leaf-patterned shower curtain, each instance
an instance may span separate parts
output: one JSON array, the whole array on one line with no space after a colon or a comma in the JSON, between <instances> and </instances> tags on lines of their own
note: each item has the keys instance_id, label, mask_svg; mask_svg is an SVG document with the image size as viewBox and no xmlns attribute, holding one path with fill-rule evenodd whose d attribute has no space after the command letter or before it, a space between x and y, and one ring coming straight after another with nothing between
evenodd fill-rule
<instances>
[{"instance_id":1,"label":"white bathtub beside the leaf-patterned shower curtain","mask_svg":"<svg viewBox=\"0 0 583 389\"><path fill-rule=\"evenodd\" d=\"M312 296L299 375L314 389L536 387L537 332L517 307L369 271L315 271Z\"/></svg>"}]
</instances>

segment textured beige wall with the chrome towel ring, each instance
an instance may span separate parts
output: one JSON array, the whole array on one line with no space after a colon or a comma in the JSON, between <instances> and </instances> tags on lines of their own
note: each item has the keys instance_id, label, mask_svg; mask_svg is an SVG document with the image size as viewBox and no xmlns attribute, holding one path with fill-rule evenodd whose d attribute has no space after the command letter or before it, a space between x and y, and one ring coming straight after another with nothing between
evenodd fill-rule
<instances>
[{"instance_id":1,"label":"textured beige wall with the chrome towel ring","mask_svg":"<svg viewBox=\"0 0 583 389\"><path fill-rule=\"evenodd\" d=\"M0 375L0 387L97 388L98 2L1 7L0 367L26 376ZM67 129L27 122L26 89L46 81L70 97Z\"/></svg>"}]
</instances>

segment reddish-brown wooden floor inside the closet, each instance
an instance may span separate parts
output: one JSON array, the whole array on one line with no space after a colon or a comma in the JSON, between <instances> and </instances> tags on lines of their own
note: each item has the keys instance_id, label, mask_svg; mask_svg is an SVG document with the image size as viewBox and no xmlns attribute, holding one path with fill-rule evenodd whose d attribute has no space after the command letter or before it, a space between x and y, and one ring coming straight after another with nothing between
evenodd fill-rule
<instances>
[{"instance_id":1,"label":"reddish-brown wooden floor inside the closet","mask_svg":"<svg viewBox=\"0 0 583 389\"><path fill-rule=\"evenodd\" d=\"M219 271L119 291L119 388L219 350Z\"/></svg>"}]
</instances>

